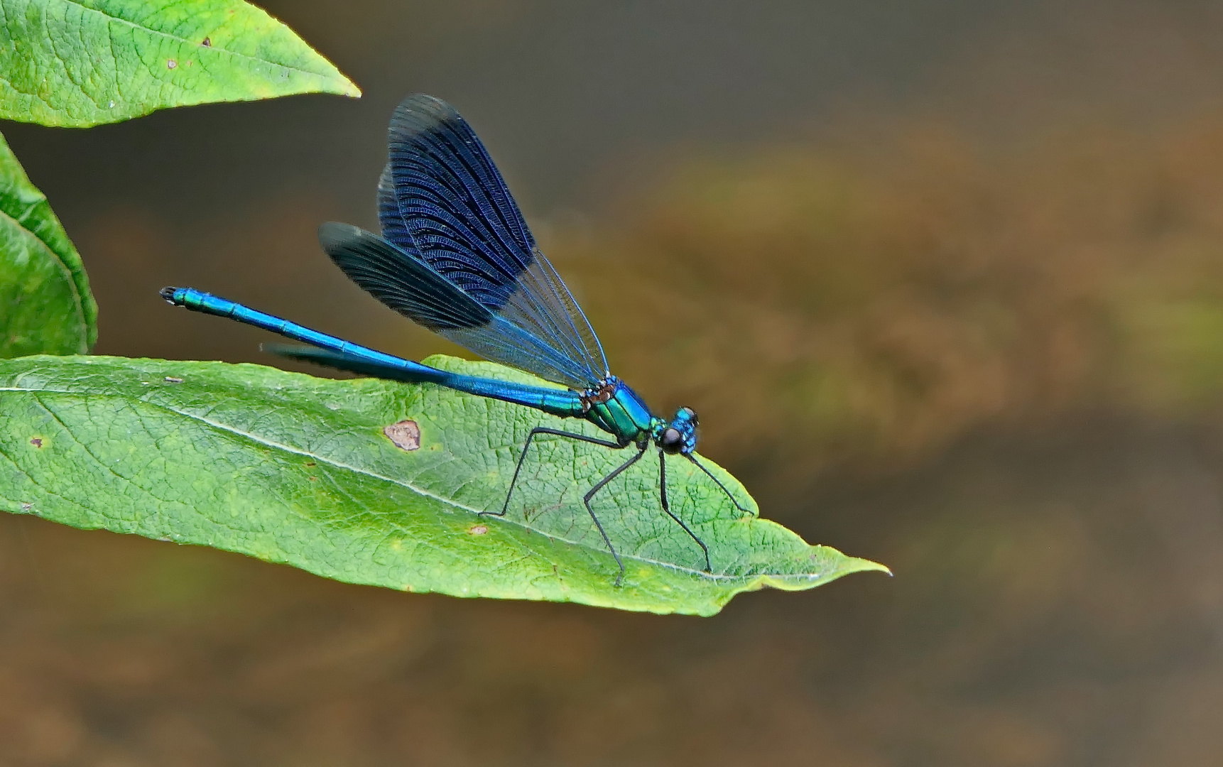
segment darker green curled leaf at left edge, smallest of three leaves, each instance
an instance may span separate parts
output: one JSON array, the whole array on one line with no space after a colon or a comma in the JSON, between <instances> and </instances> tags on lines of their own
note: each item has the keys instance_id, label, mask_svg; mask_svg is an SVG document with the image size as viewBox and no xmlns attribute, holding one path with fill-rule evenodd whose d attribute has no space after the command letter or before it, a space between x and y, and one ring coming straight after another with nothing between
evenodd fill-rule
<instances>
[{"instance_id":1,"label":"darker green curled leaf at left edge, smallest of three leaves","mask_svg":"<svg viewBox=\"0 0 1223 767\"><path fill-rule=\"evenodd\" d=\"M84 354L97 322L81 256L0 136L0 357Z\"/></svg>"}]
</instances>

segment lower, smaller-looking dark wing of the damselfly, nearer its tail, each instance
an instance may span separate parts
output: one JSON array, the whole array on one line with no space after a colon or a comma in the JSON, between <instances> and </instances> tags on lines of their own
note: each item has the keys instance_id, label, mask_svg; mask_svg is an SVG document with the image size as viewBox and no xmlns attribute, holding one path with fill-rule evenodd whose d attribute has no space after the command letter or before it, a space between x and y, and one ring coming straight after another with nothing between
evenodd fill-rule
<instances>
[{"instance_id":1,"label":"lower, smaller-looking dark wing of the damselfly, nearer its tail","mask_svg":"<svg viewBox=\"0 0 1223 767\"><path fill-rule=\"evenodd\" d=\"M589 387L583 365L490 312L428 263L378 235L328 221L319 226L318 240L353 283L413 322L489 360L575 389Z\"/></svg>"}]
</instances>

